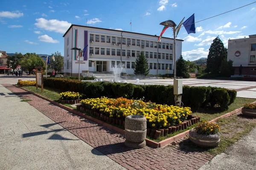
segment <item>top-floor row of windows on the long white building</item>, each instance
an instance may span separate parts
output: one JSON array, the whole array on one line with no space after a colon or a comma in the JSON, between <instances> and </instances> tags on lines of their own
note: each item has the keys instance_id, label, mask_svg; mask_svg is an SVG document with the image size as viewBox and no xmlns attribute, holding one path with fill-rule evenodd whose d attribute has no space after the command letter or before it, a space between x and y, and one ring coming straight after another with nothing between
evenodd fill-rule
<instances>
[{"instance_id":1,"label":"top-floor row of windows on the long white building","mask_svg":"<svg viewBox=\"0 0 256 170\"><path fill-rule=\"evenodd\" d=\"M90 41L111 43L111 40L112 40L112 43L121 44L121 37L113 37L113 36L96 34L94 39L94 34L90 34ZM122 44L137 45L137 46L142 45L145 47L157 48L157 42L155 41L139 40L139 39L133 39L133 38L131 39L131 38L125 38L125 37L122 37ZM172 50L172 44L158 42L158 48Z\"/></svg>"}]
</instances>

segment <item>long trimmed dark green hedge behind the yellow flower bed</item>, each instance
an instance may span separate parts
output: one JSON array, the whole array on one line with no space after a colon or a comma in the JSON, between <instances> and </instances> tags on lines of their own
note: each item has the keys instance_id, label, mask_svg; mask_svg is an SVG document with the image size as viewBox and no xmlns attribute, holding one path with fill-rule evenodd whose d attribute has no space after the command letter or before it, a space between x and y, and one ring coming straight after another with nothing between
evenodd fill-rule
<instances>
[{"instance_id":1,"label":"long trimmed dark green hedge behind the yellow flower bed","mask_svg":"<svg viewBox=\"0 0 256 170\"><path fill-rule=\"evenodd\" d=\"M157 104L175 105L172 85L134 85L131 83L79 82L74 79L44 78L44 86L85 94L87 98L107 96L144 99ZM216 87L183 86L182 102L194 111L211 105L227 109L236 99L236 91Z\"/></svg>"}]
</instances>

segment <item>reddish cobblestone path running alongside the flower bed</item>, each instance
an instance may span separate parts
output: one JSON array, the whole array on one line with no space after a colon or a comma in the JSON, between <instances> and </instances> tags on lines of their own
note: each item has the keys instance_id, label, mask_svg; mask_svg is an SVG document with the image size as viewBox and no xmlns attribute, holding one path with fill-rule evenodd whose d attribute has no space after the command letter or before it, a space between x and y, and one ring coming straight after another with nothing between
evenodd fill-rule
<instances>
[{"instance_id":1,"label":"reddish cobblestone path running alongside the flower bed","mask_svg":"<svg viewBox=\"0 0 256 170\"><path fill-rule=\"evenodd\" d=\"M10 84L2 84L16 95L31 99L28 103L44 113L81 140L100 151L128 170L195 170L203 166L213 156L200 152L188 152L176 147L131 149L124 144L124 136L102 125L76 116L52 103L30 94ZM96 153L95 153L96 154Z\"/></svg>"}]
</instances>

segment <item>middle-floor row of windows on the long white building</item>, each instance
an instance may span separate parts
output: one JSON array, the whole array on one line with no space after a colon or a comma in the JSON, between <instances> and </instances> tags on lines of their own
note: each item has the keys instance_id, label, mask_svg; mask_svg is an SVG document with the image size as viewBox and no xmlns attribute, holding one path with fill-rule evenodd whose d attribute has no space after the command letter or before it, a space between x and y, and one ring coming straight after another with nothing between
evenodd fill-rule
<instances>
[{"instance_id":1,"label":"middle-floor row of windows on the long white building","mask_svg":"<svg viewBox=\"0 0 256 170\"><path fill-rule=\"evenodd\" d=\"M94 53L95 49L95 53ZM100 51L100 53L99 53ZM111 52L111 53L110 53ZM149 51L143 51L146 58L157 58L157 52L149 52ZM112 55L112 56L120 56L121 55L121 49L115 49L115 48L99 48L99 47L90 47L90 54L101 54L101 55ZM139 57L140 51L135 50L124 50L122 49L122 56L127 57ZM158 53L158 59L172 59L172 54L168 53Z\"/></svg>"}]
</instances>

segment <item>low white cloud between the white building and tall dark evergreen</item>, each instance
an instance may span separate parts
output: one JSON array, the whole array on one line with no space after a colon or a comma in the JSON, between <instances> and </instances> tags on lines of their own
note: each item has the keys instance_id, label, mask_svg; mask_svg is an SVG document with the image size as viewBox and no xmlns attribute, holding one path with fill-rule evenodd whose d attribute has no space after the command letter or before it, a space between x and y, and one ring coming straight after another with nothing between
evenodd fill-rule
<instances>
[{"instance_id":1,"label":"low white cloud between the white building and tall dark evergreen","mask_svg":"<svg viewBox=\"0 0 256 170\"><path fill-rule=\"evenodd\" d=\"M186 60L189 59L190 61L200 59L202 57L207 57L208 54L209 54L209 51L205 51L204 48L198 48L196 50L182 52L183 58Z\"/></svg>"}]
</instances>

